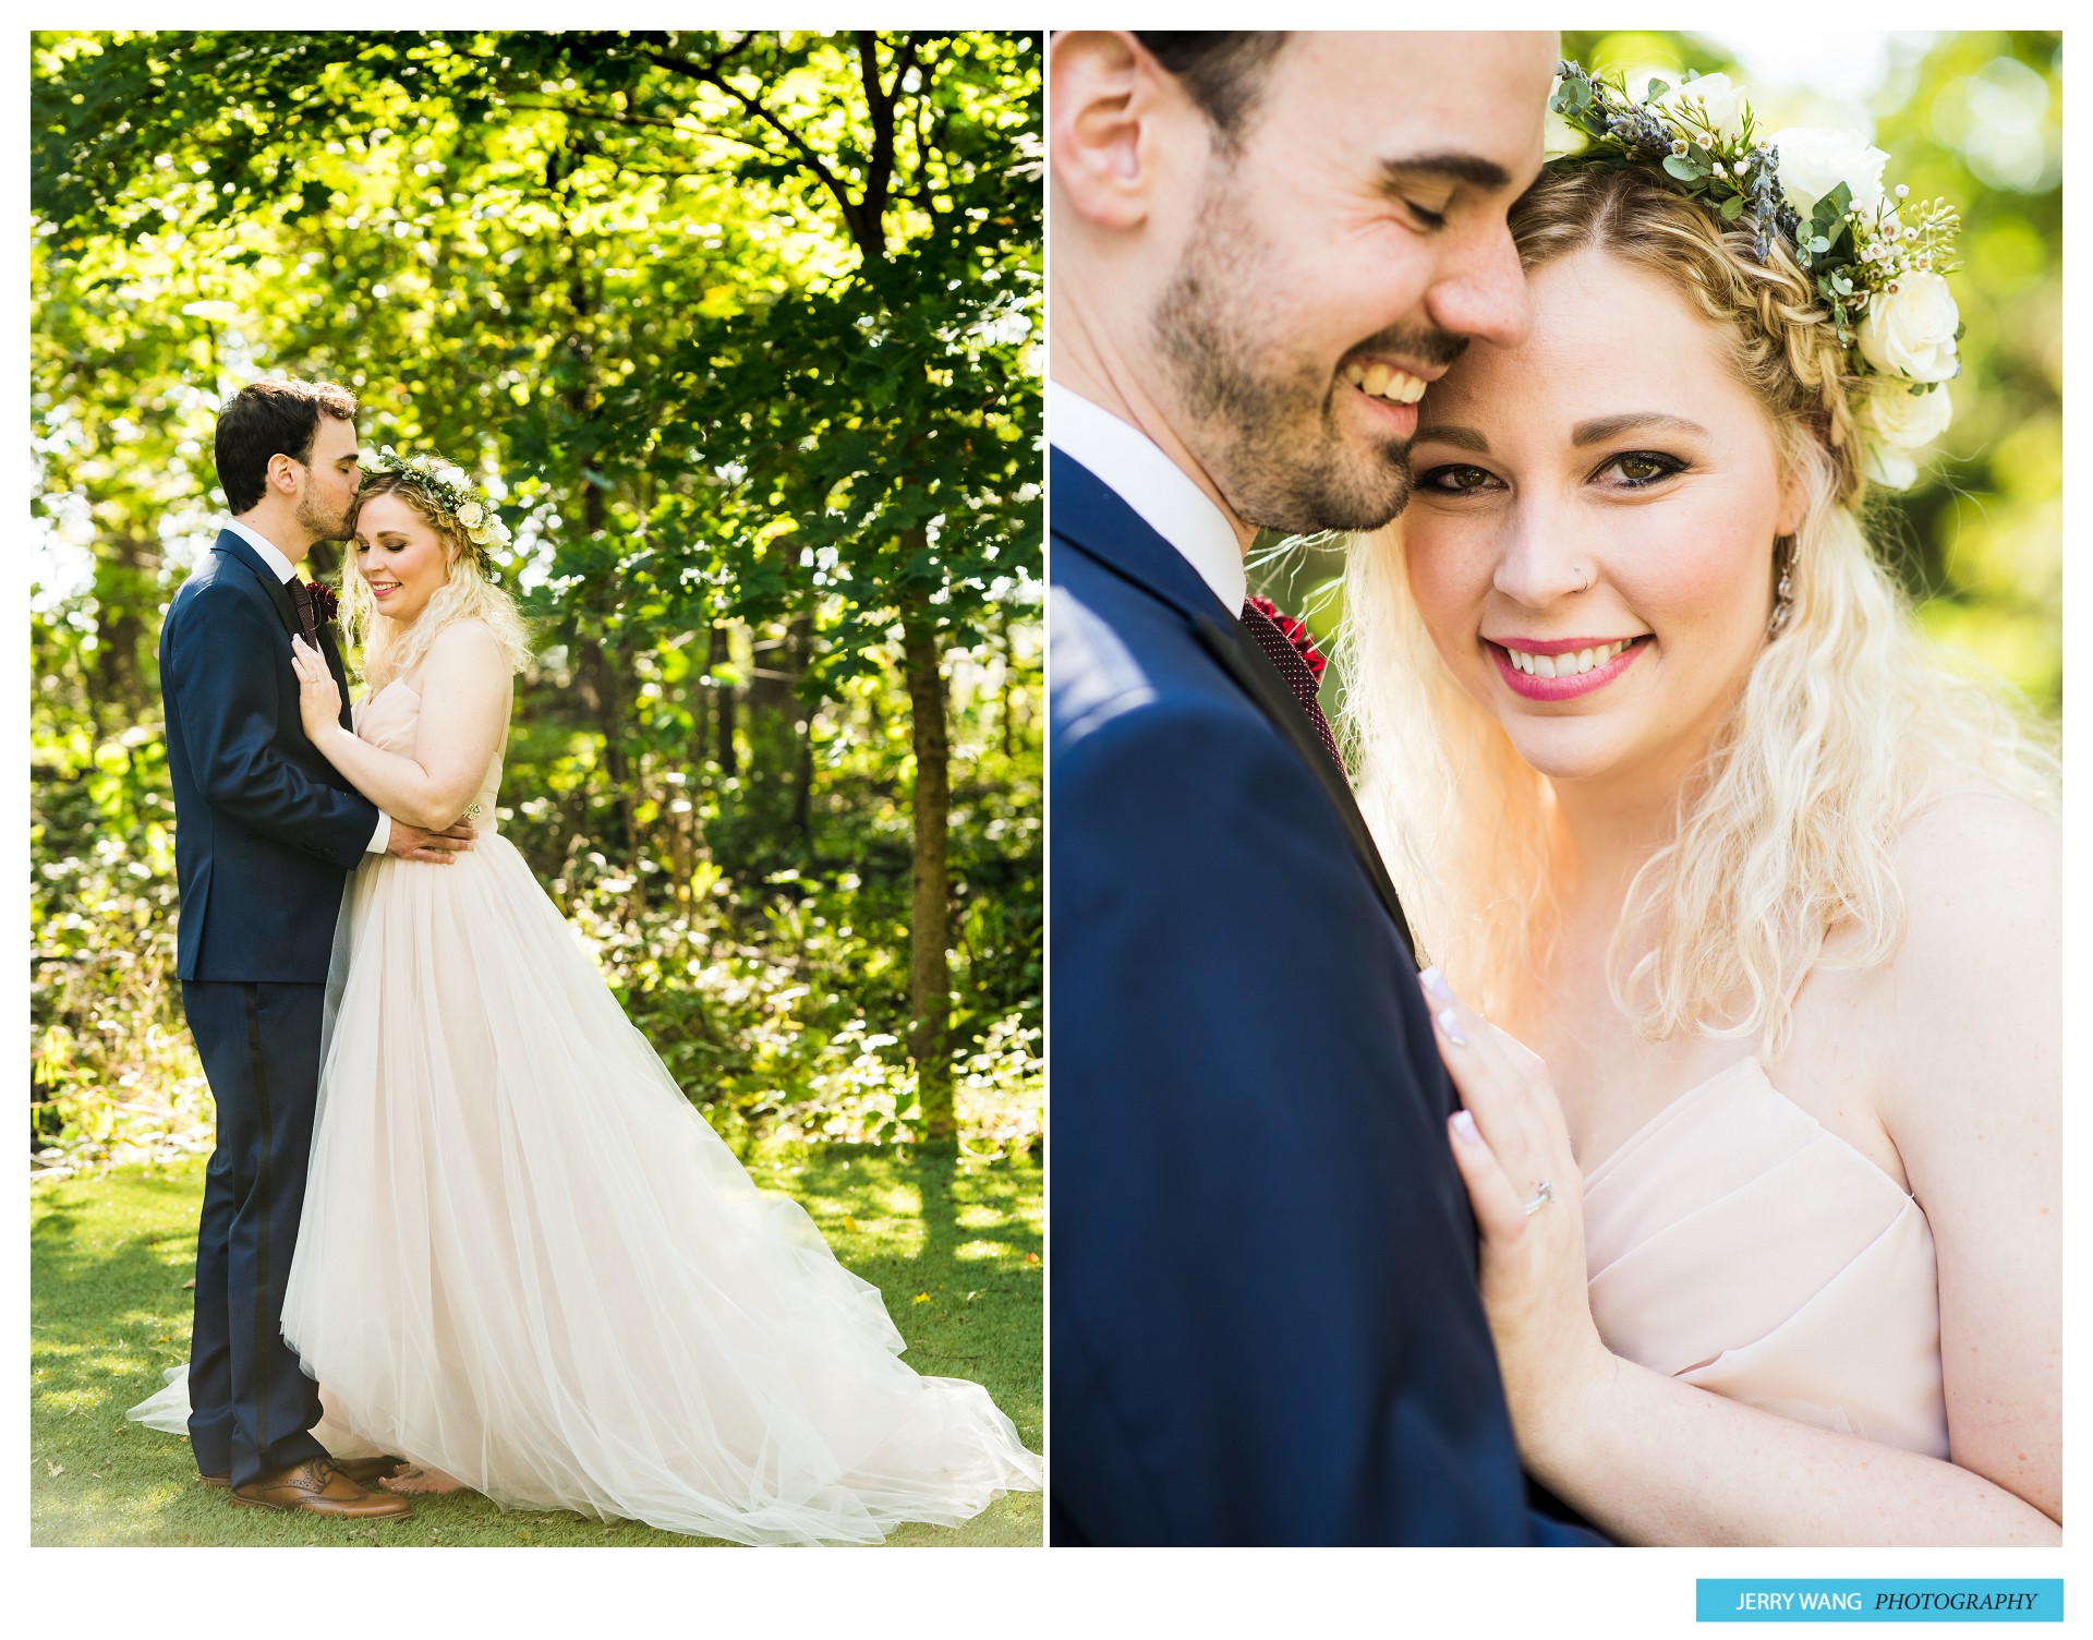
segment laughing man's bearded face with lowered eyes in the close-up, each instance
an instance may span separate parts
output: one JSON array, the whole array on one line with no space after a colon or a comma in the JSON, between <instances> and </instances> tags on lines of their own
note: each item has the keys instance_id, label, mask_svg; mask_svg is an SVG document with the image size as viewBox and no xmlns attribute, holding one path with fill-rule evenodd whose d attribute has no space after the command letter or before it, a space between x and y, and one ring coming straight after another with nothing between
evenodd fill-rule
<instances>
[{"instance_id":1,"label":"laughing man's bearded face with lowered eyes in the close-up","mask_svg":"<svg viewBox=\"0 0 2093 1640\"><path fill-rule=\"evenodd\" d=\"M1427 383L1469 339L1524 337L1505 209L1540 170L1553 59L1545 34L1304 34L1214 132L1151 331L1237 515L1388 524Z\"/></svg>"}]
</instances>

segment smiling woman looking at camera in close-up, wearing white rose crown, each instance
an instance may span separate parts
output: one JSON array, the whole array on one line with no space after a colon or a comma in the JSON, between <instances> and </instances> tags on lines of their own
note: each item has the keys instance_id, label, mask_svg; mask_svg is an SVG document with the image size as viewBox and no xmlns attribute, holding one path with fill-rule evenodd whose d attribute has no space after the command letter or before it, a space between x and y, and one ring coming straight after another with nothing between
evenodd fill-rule
<instances>
[{"instance_id":1,"label":"smiling woman looking at camera in close-up, wearing white rose crown","mask_svg":"<svg viewBox=\"0 0 2093 1640\"><path fill-rule=\"evenodd\" d=\"M1350 767L1528 1468L1633 1544L2055 1544L2055 760L1861 522L1946 421L1949 218L1702 84L1691 128L1693 82L1568 98L1532 331L1430 387L1350 551ZM1647 121L1731 132L1702 197ZM1810 222L1827 153L1804 268L1766 201Z\"/></svg>"}]
</instances>

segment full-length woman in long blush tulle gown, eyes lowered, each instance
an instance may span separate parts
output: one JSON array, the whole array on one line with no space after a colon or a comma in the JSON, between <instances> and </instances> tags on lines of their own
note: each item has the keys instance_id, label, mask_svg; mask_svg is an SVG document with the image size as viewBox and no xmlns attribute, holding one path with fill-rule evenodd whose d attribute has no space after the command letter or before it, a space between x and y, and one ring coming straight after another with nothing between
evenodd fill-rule
<instances>
[{"instance_id":1,"label":"full-length woman in long blush tulle gown, eyes lowered","mask_svg":"<svg viewBox=\"0 0 2093 1640\"><path fill-rule=\"evenodd\" d=\"M402 1489L743 1544L1038 1489L988 1393L896 1359L879 1290L756 1190L500 836L523 645L492 513L454 467L381 465L345 599L370 689L350 735L301 647L306 727L387 813L479 836L366 863L343 909L283 1317L331 1420L417 1464Z\"/></svg>"}]
</instances>

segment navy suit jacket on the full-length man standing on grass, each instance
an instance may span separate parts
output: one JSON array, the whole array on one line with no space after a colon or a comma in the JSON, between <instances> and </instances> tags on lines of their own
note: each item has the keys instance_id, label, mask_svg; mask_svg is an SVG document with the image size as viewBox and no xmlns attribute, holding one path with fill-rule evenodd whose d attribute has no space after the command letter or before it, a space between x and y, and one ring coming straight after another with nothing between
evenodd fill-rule
<instances>
[{"instance_id":1,"label":"navy suit jacket on the full-length man standing on grass","mask_svg":"<svg viewBox=\"0 0 2093 1640\"><path fill-rule=\"evenodd\" d=\"M299 723L297 630L291 593L232 530L161 624L184 980L324 984L343 873L379 823ZM320 649L347 702L324 628Z\"/></svg>"}]
</instances>

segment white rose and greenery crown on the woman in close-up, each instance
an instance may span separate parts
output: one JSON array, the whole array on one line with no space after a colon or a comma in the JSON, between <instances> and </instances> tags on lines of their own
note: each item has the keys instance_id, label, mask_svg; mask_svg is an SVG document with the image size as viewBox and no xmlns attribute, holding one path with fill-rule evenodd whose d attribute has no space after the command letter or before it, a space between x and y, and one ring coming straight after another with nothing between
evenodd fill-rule
<instances>
[{"instance_id":1,"label":"white rose and greenery crown on the woman in close-up","mask_svg":"<svg viewBox=\"0 0 2093 1640\"><path fill-rule=\"evenodd\" d=\"M1727 73L1651 80L1643 101L1620 75L1607 82L1576 63L1559 63L1557 75L1549 107L1589 138L1570 163L1662 170L1723 224L1750 224L1760 262L1775 241L1787 245L1817 285L1848 375L1877 377L1861 404L1869 475L1909 486L1909 452L1946 431L1953 406L1940 387L1961 373L1963 325L1942 279L1955 270L1957 214L1938 199L1907 203L1903 182L1884 191L1890 155L1856 132L1762 134Z\"/></svg>"}]
</instances>

